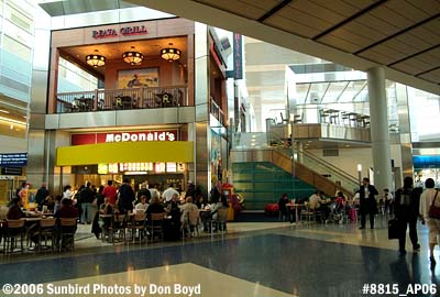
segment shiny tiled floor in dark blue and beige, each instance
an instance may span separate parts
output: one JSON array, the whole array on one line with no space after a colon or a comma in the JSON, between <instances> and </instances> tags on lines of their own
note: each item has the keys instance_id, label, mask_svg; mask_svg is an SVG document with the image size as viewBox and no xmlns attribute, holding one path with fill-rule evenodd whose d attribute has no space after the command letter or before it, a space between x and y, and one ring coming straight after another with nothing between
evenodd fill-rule
<instances>
[{"instance_id":1,"label":"shiny tiled floor in dark blue and beige","mask_svg":"<svg viewBox=\"0 0 440 297\"><path fill-rule=\"evenodd\" d=\"M403 294L408 284L438 284L440 277L440 267L430 268L422 226L421 252L408 246L406 256L387 240L385 220L362 231L355 224L284 222L228 228L226 235L185 242L112 245L80 226L74 253L1 255L0 285L44 288L20 296L366 297L398 294L362 294L365 283L396 284Z\"/></svg>"}]
</instances>

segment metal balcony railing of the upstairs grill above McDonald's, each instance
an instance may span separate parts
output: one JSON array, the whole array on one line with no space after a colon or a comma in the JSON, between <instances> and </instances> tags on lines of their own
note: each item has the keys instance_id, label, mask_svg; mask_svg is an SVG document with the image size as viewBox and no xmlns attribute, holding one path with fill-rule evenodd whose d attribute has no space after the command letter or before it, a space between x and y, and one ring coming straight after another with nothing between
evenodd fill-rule
<instances>
[{"instance_id":1,"label":"metal balcony railing of the upstairs grill above McDonald's","mask_svg":"<svg viewBox=\"0 0 440 297\"><path fill-rule=\"evenodd\" d=\"M56 95L57 113L182 106L188 106L186 86L96 89Z\"/></svg>"}]
</instances>

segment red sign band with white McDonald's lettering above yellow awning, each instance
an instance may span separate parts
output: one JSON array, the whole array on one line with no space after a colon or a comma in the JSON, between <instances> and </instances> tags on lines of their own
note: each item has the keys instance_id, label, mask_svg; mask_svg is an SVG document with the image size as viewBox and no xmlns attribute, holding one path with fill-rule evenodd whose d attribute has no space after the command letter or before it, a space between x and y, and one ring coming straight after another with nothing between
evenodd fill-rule
<instances>
[{"instance_id":1,"label":"red sign band with white McDonald's lettering above yellow awning","mask_svg":"<svg viewBox=\"0 0 440 297\"><path fill-rule=\"evenodd\" d=\"M138 142L138 141L177 141L178 130L148 130L131 132L105 132L105 133L75 133L70 134L72 145L111 143L111 142Z\"/></svg>"}]
</instances>

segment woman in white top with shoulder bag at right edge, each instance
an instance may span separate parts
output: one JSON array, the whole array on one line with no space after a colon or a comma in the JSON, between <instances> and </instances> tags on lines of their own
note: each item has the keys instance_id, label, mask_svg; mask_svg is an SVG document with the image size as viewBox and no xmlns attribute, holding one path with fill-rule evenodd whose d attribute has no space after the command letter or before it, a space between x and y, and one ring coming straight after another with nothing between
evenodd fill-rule
<instances>
[{"instance_id":1,"label":"woman in white top with shoulder bag at right edge","mask_svg":"<svg viewBox=\"0 0 440 297\"><path fill-rule=\"evenodd\" d=\"M433 257L433 248L438 244L438 237L440 235L440 195L436 190L436 183L432 178L425 182L426 190L420 197L420 216L422 223L427 223L429 229L429 260L431 265L436 265Z\"/></svg>"}]
</instances>

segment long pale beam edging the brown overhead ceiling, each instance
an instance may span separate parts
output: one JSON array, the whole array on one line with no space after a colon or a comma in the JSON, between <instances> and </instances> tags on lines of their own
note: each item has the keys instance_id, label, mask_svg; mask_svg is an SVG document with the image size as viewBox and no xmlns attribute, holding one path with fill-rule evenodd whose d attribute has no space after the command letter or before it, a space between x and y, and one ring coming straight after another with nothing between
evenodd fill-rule
<instances>
[{"instance_id":1,"label":"long pale beam edging the brown overhead ceiling","mask_svg":"<svg viewBox=\"0 0 440 297\"><path fill-rule=\"evenodd\" d=\"M307 55L320 57L356 70L366 72L370 68L383 66L387 79L440 95L440 85L414 77L391 67L371 62L334 47L320 44L293 33L276 29L264 23L237 15L221 9L191 0L127 0L146 8L172 13L212 26L229 30L242 35L276 44Z\"/></svg>"}]
</instances>

